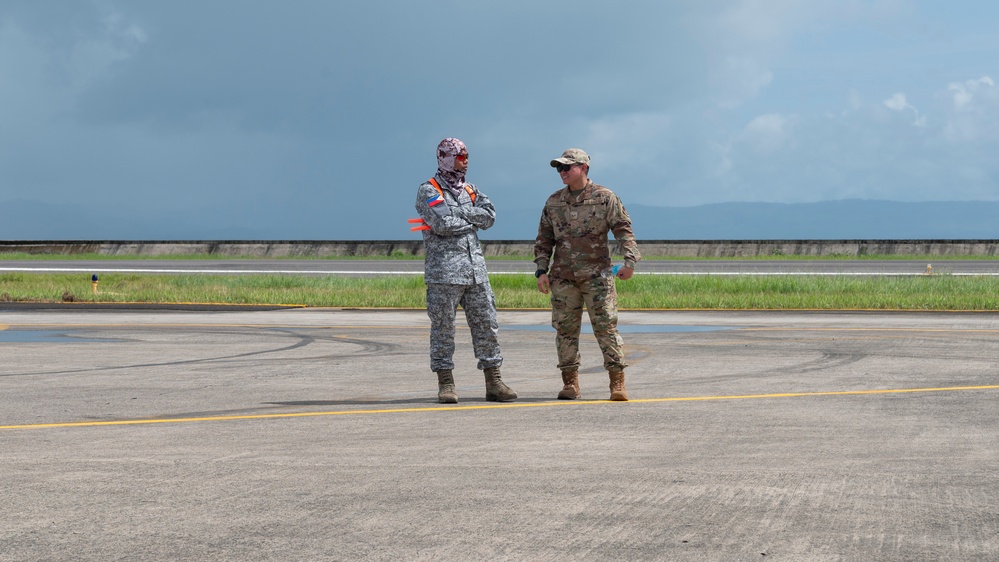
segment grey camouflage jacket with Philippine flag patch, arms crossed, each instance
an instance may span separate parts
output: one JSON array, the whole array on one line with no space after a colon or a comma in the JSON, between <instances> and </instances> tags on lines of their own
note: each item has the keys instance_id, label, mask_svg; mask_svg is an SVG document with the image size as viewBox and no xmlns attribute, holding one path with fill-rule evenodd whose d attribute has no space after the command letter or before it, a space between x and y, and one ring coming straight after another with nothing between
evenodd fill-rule
<instances>
[{"instance_id":1,"label":"grey camouflage jacket with Philippine flag patch, arms crossed","mask_svg":"<svg viewBox=\"0 0 999 562\"><path fill-rule=\"evenodd\" d=\"M472 185L475 202L467 191L456 198L437 176L442 193L429 181L416 192L416 212L430 226L423 231L427 283L478 285L488 280L478 231L496 221L496 209L484 193ZM471 184L469 184L471 185Z\"/></svg>"}]
</instances>

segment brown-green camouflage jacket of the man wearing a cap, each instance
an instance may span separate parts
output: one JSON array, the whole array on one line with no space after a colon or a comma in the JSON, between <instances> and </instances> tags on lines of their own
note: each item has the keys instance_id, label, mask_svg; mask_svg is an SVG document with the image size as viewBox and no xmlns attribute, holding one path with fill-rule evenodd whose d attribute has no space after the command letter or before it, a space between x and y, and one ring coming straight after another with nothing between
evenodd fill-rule
<instances>
[{"instance_id":1,"label":"brown-green camouflage jacket of the man wearing a cap","mask_svg":"<svg viewBox=\"0 0 999 562\"><path fill-rule=\"evenodd\" d=\"M553 193L541 212L538 237L534 241L534 263L538 269L548 269L554 279L586 281L600 275L611 266L611 251L607 233L614 238L624 254L624 265L632 269L641 259L631 218L613 191L588 181L577 201L564 187Z\"/></svg>"}]
</instances>

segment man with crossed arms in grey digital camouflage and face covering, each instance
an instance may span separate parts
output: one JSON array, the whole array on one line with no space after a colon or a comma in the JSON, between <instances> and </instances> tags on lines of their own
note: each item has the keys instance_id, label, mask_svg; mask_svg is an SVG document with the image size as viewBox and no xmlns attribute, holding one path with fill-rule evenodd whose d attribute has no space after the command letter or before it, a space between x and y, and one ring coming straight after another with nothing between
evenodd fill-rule
<instances>
[{"instance_id":1,"label":"man with crossed arms in grey digital camouflage and face covering","mask_svg":"<svg viewBox=\"0 0 999 562\"><path fill-rule=\"evenodd\" d=\"M493 296L486 261L477 232L496 220L489 198L465 182L468 150L456 138L437 146L437 174L416 194L416 211L430 228L423 231L427 284L427 315L430 316L430 368L437 373L437 399L455 404L454 385L455 313L459 305L472 331L472 346L478 368L485 374L486 400L507 401L517 393L500 379L500 354Z\"/></svg>"}]
</instances>

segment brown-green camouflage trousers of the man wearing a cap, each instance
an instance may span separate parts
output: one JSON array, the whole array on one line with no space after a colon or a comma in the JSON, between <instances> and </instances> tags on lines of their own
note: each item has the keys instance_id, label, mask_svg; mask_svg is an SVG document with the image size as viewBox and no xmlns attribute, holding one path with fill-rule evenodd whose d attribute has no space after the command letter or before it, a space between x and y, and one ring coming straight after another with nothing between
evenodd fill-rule
<instances>
[{"instance_id":1,"label":"brown-green camouflage trousers of the man wearing a cap","mask_svg":"<svg viewBox=\"0 0 999 562\"><path fill-rule=\"evenodd\" d=\"M579 332L584 305L593 335L604 355L604 368L621 371L628 366L624 361L624 341L617 331L617 289L613 279L597 277L579 282L553 279L551 295L559 369L579 369Z\"/></svg>"}]
</instances>

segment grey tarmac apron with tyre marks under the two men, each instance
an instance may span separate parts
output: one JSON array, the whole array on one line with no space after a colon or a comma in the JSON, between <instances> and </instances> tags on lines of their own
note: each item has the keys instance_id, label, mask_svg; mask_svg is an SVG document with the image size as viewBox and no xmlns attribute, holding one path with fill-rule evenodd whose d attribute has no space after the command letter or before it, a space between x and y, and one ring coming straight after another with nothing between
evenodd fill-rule
<instances>
[{"instance_id":1,"label":"grey tarmac apron with tyre marks under the two men","mask_svg":"<svg viewBox=\"0 0 999 562\"><path fill-rule=\"evenodd\" d=\"M459 315L460 318L460 315ZM999 314L0 308L0 560L996 560Z\"/></svg>"}]
</instances>

